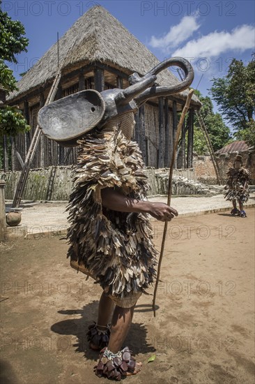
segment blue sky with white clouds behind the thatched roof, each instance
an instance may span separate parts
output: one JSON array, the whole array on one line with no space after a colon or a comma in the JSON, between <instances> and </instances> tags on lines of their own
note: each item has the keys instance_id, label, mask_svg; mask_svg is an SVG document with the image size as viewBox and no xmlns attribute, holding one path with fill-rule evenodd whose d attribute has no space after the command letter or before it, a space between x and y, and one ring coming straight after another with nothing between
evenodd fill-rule
<instances>
[{"instance_id":1,"label":"blue sky with white clouds behind the thatched roof","mask_svg":"<svg viewBox=\"0 0 255 384\"><path fill-rule=\"evenodd\" d=\"M95 4L109 10L158 59L189 59L195 70L192 86L203 96L212 77L226 75L231 59L247 64L255 52L252 0L3 0L2 10L24 24L29 38L28 52L10 65L17 80L56 42L57 31L61 38Z\"/></svg>"}]
</instances>

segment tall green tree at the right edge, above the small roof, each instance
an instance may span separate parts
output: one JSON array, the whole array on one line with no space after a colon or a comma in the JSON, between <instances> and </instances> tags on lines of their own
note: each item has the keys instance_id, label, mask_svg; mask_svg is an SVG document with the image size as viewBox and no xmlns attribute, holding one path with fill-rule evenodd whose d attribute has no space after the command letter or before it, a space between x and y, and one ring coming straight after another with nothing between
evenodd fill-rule
<instances>
[{"instance_id":1,"label":"tall green tree at the right edge, above the small roof","mask_svg":"<svg viewBox=\"0 0 255 384\"><path fill-rule=\"evenodd\" d=\"M233 126L235 138L254 145L255 60L252 56L247 66L242 60L233 59L226 76L212 79L210 94Z\"/></svg>"}]
</instances>

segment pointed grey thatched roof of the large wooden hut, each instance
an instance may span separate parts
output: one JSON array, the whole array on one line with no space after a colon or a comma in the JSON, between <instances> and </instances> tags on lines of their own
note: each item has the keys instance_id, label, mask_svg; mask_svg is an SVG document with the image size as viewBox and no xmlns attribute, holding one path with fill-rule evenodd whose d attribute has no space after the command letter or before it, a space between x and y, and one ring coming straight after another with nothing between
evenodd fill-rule
<instances>
[{"instance_id":1,"label":"pointed grey thatched roof of the large wooden hut","mask_svg":"<svg viewBox=\"0 0 255 384\"><path fill-rule=\"evenodd\" d=\"M94 6L84 13L59 40L62 73L94 61L101 61L127 75L133 72L144 75L159 63L154 54L102 6ZM22 77L17 84L19 91L12 92L8 100L24 96L28 91L53 80L56 71L57 43ZM168 70L157 78L160 85L179 82ZM181 92L178 97L185 98L185 95L187 91ZM196 96L193 96L193 102L201 105Z\"/></svg>"}]
</instances>

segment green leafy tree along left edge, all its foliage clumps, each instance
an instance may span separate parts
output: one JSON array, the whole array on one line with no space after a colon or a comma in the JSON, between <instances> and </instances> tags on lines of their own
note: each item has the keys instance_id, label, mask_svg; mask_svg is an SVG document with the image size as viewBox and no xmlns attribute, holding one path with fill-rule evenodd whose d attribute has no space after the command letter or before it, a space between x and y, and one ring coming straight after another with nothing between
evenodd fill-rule
<instances>
[{"instance_id":1,"label":"green leafy tree along left edge, all its foliage clumps","mask_svg":"<svg viewBox=\"0 0 255 384\"><path fill-rule=\"evenodd\" d=\"M7 94L17 89L17 81L5 61L17 63L15 54L27 52L26 46L29 40L23 36L24 33L22 23L11 20L8 14L0 8L0 84L6 89ZM26 132L29 129L20 110L10 107L6 103L0 105L0 138L3 135L15 136L17 133Z\"/></svg>"}]
</instances>

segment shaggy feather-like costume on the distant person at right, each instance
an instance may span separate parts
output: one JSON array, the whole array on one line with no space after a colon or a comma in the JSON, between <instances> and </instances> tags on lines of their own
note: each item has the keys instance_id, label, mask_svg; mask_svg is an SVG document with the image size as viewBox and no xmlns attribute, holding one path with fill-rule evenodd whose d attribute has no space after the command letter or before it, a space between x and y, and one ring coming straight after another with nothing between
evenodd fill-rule
<instances>
[{"instance_id":1,"label":"shaggy feather-like costume on the distant person at right","mask_svg":"<svg viewBox=\"0 0 255 384\"><path fill-rule=\"evenodd\" d=\"M249 198L249 177L250 172L245 168L235 169L229 168L226 173L228 180L226 182L224 198L226 200L240 200L241 202L247 202ZM246 182L246 187L243 188Z\"/></svg>"}]
</instances>

